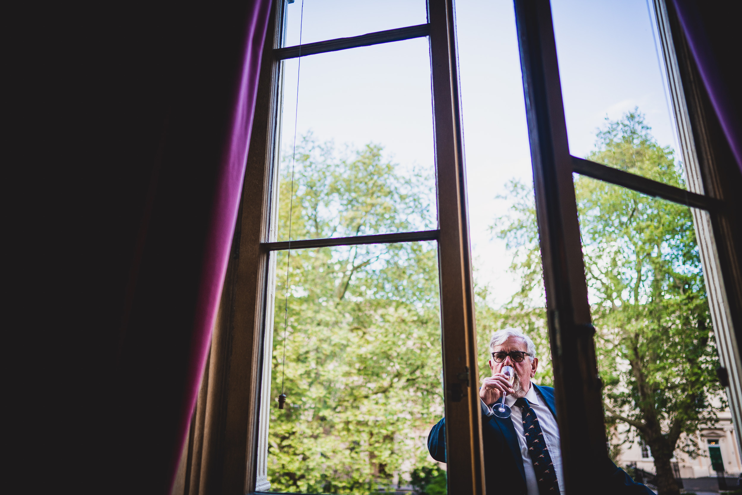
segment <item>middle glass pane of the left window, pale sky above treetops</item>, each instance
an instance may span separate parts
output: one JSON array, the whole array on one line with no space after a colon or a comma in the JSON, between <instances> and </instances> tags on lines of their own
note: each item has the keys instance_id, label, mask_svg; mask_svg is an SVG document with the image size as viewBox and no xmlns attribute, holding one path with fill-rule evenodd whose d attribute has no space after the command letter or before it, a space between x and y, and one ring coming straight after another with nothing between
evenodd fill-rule
<instances>
[{"instance_id":1,"label":"middle glass pane of the left window, pale sky above treetops","mask_svg":"<svg viewBox=\"0 0 742 495\"><path fill-rule=\"evenodd\" d=\"M303 57L301 79L286 61L278 240L289 212L314 220L292 240L436 228L429 59L410 39Z\"/></svg>"}]
</instances>

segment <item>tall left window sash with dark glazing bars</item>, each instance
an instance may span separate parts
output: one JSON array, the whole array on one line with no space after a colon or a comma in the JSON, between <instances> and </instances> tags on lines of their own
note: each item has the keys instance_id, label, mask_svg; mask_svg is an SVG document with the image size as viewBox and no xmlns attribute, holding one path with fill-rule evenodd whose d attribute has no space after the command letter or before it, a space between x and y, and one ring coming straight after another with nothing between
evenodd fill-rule
<instances>
[{"instance_id":1,"label":"tall left window sash with dark glazing bars","mask_svg":"<svg viewBox=\"0 0 742 495\"><path fill-rule=\"evenodd\" d=\"M420 2L413 7L424 12L424 4ZM300 20L303 15L300 9L312 8L321 7L301 2L287 5L288 15L283 19L289 22L288 30L294 33L293 38L297 36L292 25L297 23L319 36L310 19ZM338 15L331 12L331 8L327 9L325 20L316 19L317 22L326 24L326 18ZM383 477L389 468L395 468L387 463L393 462L394 453L404 449L404 445L393 448L398 440L395 431L374 435L378 432L370 430L363 439L343 441L351 433L370 427L370 422L361 421L362 414L388 416L394 414L388 410L390 407L403 407L403 401L384 405L375 399L381 394L378 390L389 390L407 379L406 376L395 378L393 368L403 364L408 356L379 346L385 339L399 341L407 338L405 333L412 334L410 339L416 349L407 351L413 355L424 352L421 362L432 365L418 370L424 372L424 379L439 382L441 357L444 363L453 363L443 366L444 374L451 375L444 378L447 416L455 415L457 407L469 410L467 414L470 414L472 403L476 405L472 400L476 399L476 393L471 392L476 389L468 386L473 379L468 376L468 370L476 362L473 349L447 346L445 349L448 351L450 347L452 355L441 356L435 347L430 350L420 345L426 341L437 344L440 327L444 341L471 341L466 332L473 334L473 322L467 323L467 312L462 312L468 306L470 313L470 293L462 292L459 304L453 306L443 299L444 316L439 327L437 287L435 293L410 294L395 291L393 285L400 279L389 278L392 271L401 270L407 271L407 281L414 283L416 278L427 277L433 285L440 279L441 285L446 286L461 283L467 276L461 269L456 272L447 268L449 263L461 266L465 246L462 217L442 214L449 211L465 215L459 207L459 197L464 191L456 186L459 181L456 168L462 165L461 149L457 147L460 140L456 139L457 116L451 112L453 109L445 109L439 103L450 101L455 91L448 84L450 42L439 40L441 33L446 38L450 36L449 15L444 4L431 3L430 22L425 24L349 39L318 39L308 45L278 47L273 52L278 71L283 71L279 76L283 85L283 122L274 124L283 129L283 145L275 151L275 157L281 157L280 163L269 165L273 171L278 169L278 174L273 172L269 185L273 202L267 210L271 212L269 220L265 220L271 224L269 242L262 243L263 249L274 253L269 255L271 275L264 289L268 294L264 362L268 361L270 349L267 343L272 339L280 344L275 347L277 364L263 366L262 387L271 393L270 396L263 393L257 426L260 435L270 442L258 445L257 456L264 458L258 462L262 469L272 467L275 485L270 487L272 491L342 492L355 483L370 482L374 476ZM329 27L328 32L332 32ZM395 62L397 59L400 62ZM416 71L418 65L423 68L422 78L420 71ZM440 71L442 67L446 69ZM390 78L390 73L395 76ZM390 101L395 96L399 101ZM423 117L422 121L419 117ZM427 123L425 117L429 119ZM398 150L412 154L410 161L430 163L430 168L423 169L421 175L434 177L420 187L413 183L414 173L408 176L409 180L401 179L404 171L393 169L384 160L381 149L374 145L342 158L330 151L328 142L318 142L312 134L306 134L310 128L319 135L324 129L331 129L320 139L343 140L344 132L358 125L367 129L366 135L386 136L381 139L385 144L393 142L395 137L404 140L404 148ZM433 132L437 137L435 143ZM447 140L448 136L454 140ZM301 157L298 162L293 160L294 140ZM414 188L437 191L438 197L430 197L426 203L425 194L410 192ZM448 261L450 256L453 258ZM288 269L289 260L292 260L291 269ZM270 310L272 298L275 311ZM296 310L295 305L299 305ZM378 308L369 309L373 305ZM386 306L390 305L397 309L396 315L387 311ZM403 312L413 311L416 305L418 316L430 322L418 327L419 331L410 322L399 326ZM361 306L364 309L359 309ZM428 309L422 310L423 306ZM426 311L429 317L425 316ZM275 315L273 325L272 315ZM447 315L452 319L447 320ZM364 323L364 319L375 321ZM402 327L407 330L399 330ZM283 361L284 353L285 367L283 362L278 364L279 360ZM372 355L366 355L369 353ZM370 383L364 379L369 367L386 367L390 382ZM312 380L307 380L301 370L304 374L311 371ZM354 384L350 385L349 381ZM284 382L289 407L280 413L273 399L283 390ZM365 391L354 393L354 389ZM388 394L384 398L395 402ZM424 405L431 406L436 410L434 403ZM453 434L456 433L449 433ZM470 440L463 445L479 441L468 436ZM289 445L290 442L295 443ZM300 448L300 442L310 442L312 448L308 450L306 445ZM301 450L306 458L303 462L306 471L295 464L292 449ZM410 451L410 455L414 453ZM377 458L382 460L376 462ZM364 470L369 472L364 474ZM257 490L269 489L266 471L257 471L256 478Z\"/></svg>"}]
</instances>

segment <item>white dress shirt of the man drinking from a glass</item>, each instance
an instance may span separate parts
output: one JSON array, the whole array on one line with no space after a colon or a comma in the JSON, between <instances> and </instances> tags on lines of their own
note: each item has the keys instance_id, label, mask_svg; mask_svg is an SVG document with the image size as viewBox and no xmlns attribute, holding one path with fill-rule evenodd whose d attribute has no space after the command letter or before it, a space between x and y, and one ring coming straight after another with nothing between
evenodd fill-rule
<instances>
[{"instance_id":1,"label":"white dress shirt of the man drinking from a glass","mask_svg":"<svg viewBox=\"0 0 742 495\"><path fill-rule=\"evenodd\" d=\"M551 413L546 401L536 393L536 388L531 384L528 393L525 394L528 404L531 404L536 411L536 417L539 419L541 430L544 432L544 440L549 449L551 462L554 462L554 469L557 470L557 481L559 482L559 491L564 495L564 475L562 474L562 449L559 443L559 426L557 418ZM528 455L528 446L525 445L525 435L523 434L523 417L520 407L516 407L515 397L505 397L505 404L510 406L510 419L513 420L515 433L518 436L518 445L520 445L520 454L523 457L523 471L525 471L525 486L528 488L528 495L539 495L539 483L536 481L536 471L533 471L533 461ZM482 404L482 414L492 416L493 410L485 404L485 401L479 399ZM486 448L486 447L485 447Z\"/></svg>"}]
</instances>

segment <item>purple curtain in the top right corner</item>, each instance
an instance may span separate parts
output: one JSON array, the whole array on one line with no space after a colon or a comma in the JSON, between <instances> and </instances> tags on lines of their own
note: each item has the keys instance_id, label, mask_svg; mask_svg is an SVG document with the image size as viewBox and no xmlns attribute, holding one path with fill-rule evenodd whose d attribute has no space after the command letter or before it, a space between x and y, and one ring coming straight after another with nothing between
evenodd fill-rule
<instances>
[{"instance_id":1,"label":"purple curtain in the top right corner","mask_svg":"<svg viewBox=\"0 0 742 495\"><path fill-rule=\"evenodd\" d=\"M709 99L719 119L729 148L735 157L740 171L742 171L742 127L740 116L737 114L734 102L729 94L729 86L720 71L719 61L715 56L708 33L703 26L703 20L695 4L690 0L673 0L680 25L686 34L688 45L693 53L703 85L709 94ZM729 16L734 16L732 9ZM730 50L732 51L732 50ZM731 54L731 53L730 53ZM734 53L736 58L739 53ZM727 63L738 64L738 60L728 60Z\"/></svg>"}]
</instances>

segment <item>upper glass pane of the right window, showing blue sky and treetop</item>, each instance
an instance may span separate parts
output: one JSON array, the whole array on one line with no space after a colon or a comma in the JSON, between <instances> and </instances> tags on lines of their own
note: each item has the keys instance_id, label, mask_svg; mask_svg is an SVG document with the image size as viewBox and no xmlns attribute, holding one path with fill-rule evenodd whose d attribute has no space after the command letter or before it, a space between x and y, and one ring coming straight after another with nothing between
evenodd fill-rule
<instances>
[{"instance_id":1,"label":"upper glass pane of the right window, showing blue sky and treetop","mask_svg":"<svg viewBox=\"0 0 742 495\"><path fill-rule=\"evenodd\" d=\"M569 148L576 157L685 189L650 4L551 2Z\"/></svg>"}]
</instances>

